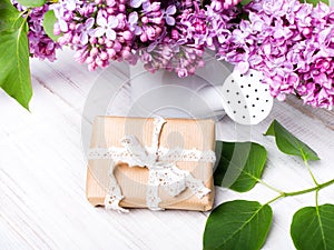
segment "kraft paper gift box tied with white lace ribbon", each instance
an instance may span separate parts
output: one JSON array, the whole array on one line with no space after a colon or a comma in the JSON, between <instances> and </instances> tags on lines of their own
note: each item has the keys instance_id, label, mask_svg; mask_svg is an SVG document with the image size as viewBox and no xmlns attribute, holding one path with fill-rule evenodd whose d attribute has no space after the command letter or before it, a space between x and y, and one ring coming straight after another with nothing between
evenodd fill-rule
<instances>
[{"instance_id":1,"label":"kraft paper gift box tied with white lace ribbon","mask_svg":"<svg viewBox=\"0 0 334 250\"><path fill-rule=\"evenodd\" d=\"M87 198L94 206L210 210L213 120L97 117Z\"/></svg>"}]
</instances>

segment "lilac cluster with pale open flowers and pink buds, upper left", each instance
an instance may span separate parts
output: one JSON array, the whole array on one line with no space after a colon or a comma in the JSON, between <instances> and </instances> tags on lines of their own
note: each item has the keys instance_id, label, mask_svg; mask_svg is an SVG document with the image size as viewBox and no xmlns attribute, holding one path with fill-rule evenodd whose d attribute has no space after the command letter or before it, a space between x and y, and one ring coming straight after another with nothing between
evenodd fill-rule
<instances>
[{"instance_id":1,"label":"lilac cluster with pale open flowers and pink buds, upper left","mask_svg":"<svg viewBox=\"0 0 334 250\"><path fill-rule=\"evenodd\" d=\"M110 60L136 62L125 0L62 0L51 8L58 18L55 33L62 33L58 42L75 49L76 60L86 62L90 71L109 66Z\"/></svg>"}]
</instances>

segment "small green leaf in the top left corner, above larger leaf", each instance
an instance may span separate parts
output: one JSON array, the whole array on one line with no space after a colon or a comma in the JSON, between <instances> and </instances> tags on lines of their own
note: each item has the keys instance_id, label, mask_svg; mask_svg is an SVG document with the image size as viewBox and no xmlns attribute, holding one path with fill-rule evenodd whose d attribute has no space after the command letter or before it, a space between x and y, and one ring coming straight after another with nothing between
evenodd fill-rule
<instances>
[{"instance_id":1,"label":"small green leaf in the top left corner, above larger leaf","mask_svg":"<svg viewBox=\"0 0 334 250\"><path fill-rule=\"evenodd\" d=\"M11 30L19 26L20 12L11 4L9 0L0 1L0 32ZM17 27L19 28L19 27Z\"/></svg>"}]
</instances>

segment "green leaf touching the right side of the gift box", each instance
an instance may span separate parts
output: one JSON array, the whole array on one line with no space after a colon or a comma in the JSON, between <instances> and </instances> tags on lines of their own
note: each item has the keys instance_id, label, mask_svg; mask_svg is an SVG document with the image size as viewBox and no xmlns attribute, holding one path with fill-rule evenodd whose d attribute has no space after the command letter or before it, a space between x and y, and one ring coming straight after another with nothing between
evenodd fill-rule
<instances>
[{"instance_id":1,"label":"green leaf touching the right side of the gift box","mask_svg":"<svg viewBox=\"0 0 334 250\"><path fill-rule=\"evenodd\" d=\"M255 142L216 142L216 186L238 192L249 191L261 178L267 159L266 149Z\"/></svg>"}]
</instances>

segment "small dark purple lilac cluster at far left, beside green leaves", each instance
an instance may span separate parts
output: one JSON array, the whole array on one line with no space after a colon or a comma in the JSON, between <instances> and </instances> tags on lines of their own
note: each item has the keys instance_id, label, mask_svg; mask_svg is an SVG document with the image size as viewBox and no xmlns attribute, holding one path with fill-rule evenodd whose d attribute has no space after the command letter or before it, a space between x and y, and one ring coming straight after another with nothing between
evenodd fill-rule
<instances>
[{"instance_id":1,"label":"small dark purple lilac cluster at far left, beside green leaves","mask_svg":"<svg viewBox=\"0 0 334 250\"><path fill-rule=\"evenodd\" d=\"M20 6L17 1L12 1L13 6L20 10L24 11L26 8ZM29 39L29 51L30 56L39 58L41 60L48 59L49 61L56 60L56 50L60 48L57 42L53 42L42 28L42 20L45 13L49 10L49 6L33 8L29 12L28 17L28 39Z\"/></svg>"}]
</instances>

